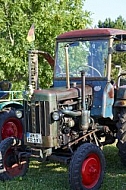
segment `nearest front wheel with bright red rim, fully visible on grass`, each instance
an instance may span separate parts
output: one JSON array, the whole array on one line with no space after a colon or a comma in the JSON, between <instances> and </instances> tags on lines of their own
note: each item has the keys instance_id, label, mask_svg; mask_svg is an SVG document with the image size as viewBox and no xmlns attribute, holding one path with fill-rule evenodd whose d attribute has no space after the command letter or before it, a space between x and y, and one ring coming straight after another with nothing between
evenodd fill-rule
<instances>
[{"instance_id":1,"label":"nearest front wheel with bright red rim, fully visible on grass","mask_svg":"<svg viewBox=\"0 0 126 190\"><path fill-rule=\"evenodd\" d=\"M98 190L105 173L105 157L95 144L85 143L74 153L69 166L72 190Z\"/></svg>"}]
</instances>

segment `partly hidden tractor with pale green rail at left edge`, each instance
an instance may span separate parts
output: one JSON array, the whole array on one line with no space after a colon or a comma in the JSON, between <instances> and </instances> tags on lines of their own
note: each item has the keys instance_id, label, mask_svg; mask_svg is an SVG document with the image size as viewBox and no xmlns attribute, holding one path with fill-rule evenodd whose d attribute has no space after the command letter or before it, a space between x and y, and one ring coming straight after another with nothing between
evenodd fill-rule
<instances>
[{"instance_id":1,"label":"partly hidden tractor with pale green rail at left edge","mask_svg":"<svg viewBox=\"0 0 126 190\"><path fill-rule=\"evenodd\" d=\"M0 142L8 137L23 137L22 91L12 91L11 87L9 81L0 81Z\"/></svg>"}]
</instances>

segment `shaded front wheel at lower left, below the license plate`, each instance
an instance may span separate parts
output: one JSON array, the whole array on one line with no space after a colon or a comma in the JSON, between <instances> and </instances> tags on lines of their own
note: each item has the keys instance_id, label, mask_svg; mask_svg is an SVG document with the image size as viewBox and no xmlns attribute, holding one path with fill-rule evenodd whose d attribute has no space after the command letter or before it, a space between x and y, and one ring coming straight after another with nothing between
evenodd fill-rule
<instances>
[{"instance_id":1,"label":"shaded front wheel at lower left, below the license plate","mask_svg":"<svg viewBox=\"0 0 126 190\"><path fill-rule=\"evenodd\" d=\"M9 137L0 143L0 180L11 180L15 177L24 176L29 167L28 158L20 158L17 152L22 152L16 139Z\"/></svg>"}]
</instances>

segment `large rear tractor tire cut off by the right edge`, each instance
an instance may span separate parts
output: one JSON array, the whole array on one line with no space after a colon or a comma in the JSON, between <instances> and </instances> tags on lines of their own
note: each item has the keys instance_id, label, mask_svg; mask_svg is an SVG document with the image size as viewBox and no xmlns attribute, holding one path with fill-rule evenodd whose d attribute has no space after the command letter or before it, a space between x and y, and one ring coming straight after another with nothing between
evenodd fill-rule
<instances>
[{"instance_id":1,"label":"large rear tractor tire cut off by the right edge","mask_svg":"<svg viewBox=\"0 0 126 190\"><path fill-rule=\"evenodd\" d=\"M119 149L121 162L126 166L126 109L122 109L120 113L117 128L117 148Z\"/></svg>"}]
</instances>

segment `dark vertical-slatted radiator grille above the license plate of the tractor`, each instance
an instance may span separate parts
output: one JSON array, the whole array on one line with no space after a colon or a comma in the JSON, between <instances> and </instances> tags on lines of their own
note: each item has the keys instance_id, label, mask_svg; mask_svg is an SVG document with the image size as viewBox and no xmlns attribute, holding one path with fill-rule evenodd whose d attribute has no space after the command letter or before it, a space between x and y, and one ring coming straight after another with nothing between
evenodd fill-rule
<instances>
[{"instance_id":1,"label":"dark vertical-slatted radiator grille above the license plate of the tractor","mask_svg":"<svg viewBox=\"0 0 126 190\"><path fill-rule=\"evenodd\" d=\"M30 103L24 102L25 132L40 133L48 136L49 130L49 102L37 101Z\"/></svg>"}]
</instances>

